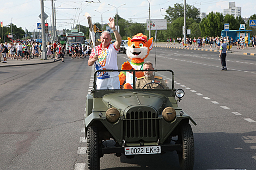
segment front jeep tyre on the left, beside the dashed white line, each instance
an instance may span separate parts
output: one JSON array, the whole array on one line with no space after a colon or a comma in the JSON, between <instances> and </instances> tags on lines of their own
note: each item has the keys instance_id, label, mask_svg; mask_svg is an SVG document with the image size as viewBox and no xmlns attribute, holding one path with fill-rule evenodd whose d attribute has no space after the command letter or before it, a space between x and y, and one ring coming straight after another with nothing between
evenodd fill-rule
<instances>
[{"instance_id":1,"label":"front jeep tyre on the left, beside the dashed white line","mask_svg":"<svg viewBox=\"0 0 256 170\"><path fill-rule=\"evenodd\" d=\"M96 127L89 127L87 131L87 165L90 170L100 169L99 133Z\"/></svg>"}]
</instances>

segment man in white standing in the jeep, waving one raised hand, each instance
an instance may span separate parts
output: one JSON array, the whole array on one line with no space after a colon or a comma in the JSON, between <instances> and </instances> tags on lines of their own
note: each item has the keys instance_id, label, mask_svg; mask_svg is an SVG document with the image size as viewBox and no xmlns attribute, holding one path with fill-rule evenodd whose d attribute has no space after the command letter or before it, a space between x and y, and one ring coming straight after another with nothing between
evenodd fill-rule
<instances>
[{"instance_id":1,"label":"man in white standing in the jeep, waving one raised hand","mask_svg":"<svg viewBox=\"0 0 256 170\"><path fill-rule=\"evenodd\" d=\"M117 41L113 44L110 43L112 39L108 31L104 31L101 34L101 44L96 46L96 53L94 49L92 50L88 60L88 66L94 65L95 70L118 70L117 53L121 45L121 36L115 28L114 19L109 18L108 21L108 26L113 30ZM97 89L119 89L118 74L118 72L98 72Z\"/></svg>"}]
</instances>

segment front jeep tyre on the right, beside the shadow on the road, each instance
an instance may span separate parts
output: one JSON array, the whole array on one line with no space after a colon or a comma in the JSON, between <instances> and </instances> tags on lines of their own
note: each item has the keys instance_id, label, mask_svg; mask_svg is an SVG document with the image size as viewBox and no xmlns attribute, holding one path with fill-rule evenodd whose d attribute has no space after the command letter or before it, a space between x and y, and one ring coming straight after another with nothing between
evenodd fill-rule
<instances>
[{"instance_id":1,"label":"front jeep tyre on the right, beside the shadow on the road","mask_svg":"<svg viewBox=\"0 0 256 170\"><path fill-rule=\"evenodd\" d=\"M182 144L182 151L178 152L182 170L192 170L194 166L194 137L191 125L181 125L178 142Z\"/></svg>"}]
</instances>

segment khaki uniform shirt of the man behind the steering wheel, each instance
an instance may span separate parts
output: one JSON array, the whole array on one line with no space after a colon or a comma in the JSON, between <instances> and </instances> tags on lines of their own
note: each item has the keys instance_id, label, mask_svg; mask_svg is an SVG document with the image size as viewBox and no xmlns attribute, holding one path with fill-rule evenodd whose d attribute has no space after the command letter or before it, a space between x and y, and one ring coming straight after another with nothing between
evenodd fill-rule
<instances>
[{"instance_id":1,"label":"khaki uniform shirt of the man behind the steering wheel","mask_svg":"<svg viewBox=\"0 0 256 170\"><path fill-rule=\"evenodd\" d=\"M151 84L148 84L148 83L151 83ZM146 84L148 85L146 85L144 89L163 89L163 87L161 87L159 84L156 84L156 83L161 84L164 87L164 89L169 89L169 87L166 85L166 81L164 81L162 77L155 76L155 75L152 75L151 77L143 76L138 78L136 81L136 89L142 89L143 86Z\"/></svg>"}]
</instances>

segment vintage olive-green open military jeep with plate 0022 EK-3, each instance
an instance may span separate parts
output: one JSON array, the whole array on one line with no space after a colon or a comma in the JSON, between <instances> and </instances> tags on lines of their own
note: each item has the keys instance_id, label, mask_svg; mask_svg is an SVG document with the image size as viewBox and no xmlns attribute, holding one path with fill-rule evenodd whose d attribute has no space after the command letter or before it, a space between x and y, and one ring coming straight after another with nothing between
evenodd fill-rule
<instances>
[{"instance_id":1,"label":"vintage olive-green open military jeep with plate 0022 EK-3","mask_svg":"<svg viewBox=\"0 0 256 170\"><path fill-rule=\"evenodd\" d=\"M171 151L177 152L181 169L193 169L194 139L188 122L194 125L196 122L178 107L184 91L174 89L174 72L154 70L170 75L169 89L136 89L137 71L125 71L133 74L131 90L96 90L99 71L94 73L93 90L86 101L88 169L100 169L103 154L133 158L139 154L157 156ZM157 82L148 83L153 84ZM111 138L115 144L109 146L106 141Z\"/></svg>"}]
</instances>

